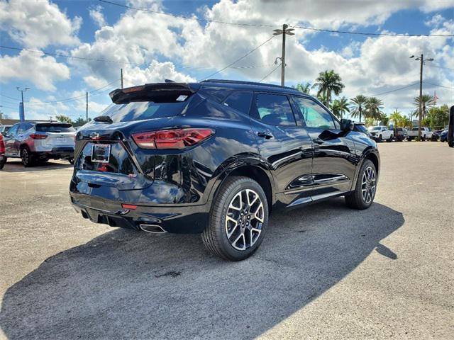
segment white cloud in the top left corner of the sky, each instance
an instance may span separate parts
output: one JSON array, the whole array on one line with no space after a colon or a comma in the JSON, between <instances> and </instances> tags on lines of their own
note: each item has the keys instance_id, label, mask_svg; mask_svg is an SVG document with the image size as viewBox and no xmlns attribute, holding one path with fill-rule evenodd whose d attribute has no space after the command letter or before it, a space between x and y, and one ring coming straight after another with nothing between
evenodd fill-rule
<instances>
[{"instance_id":1,"label":"white cloud in the top left corner of the sky","mask_svg":"<svg viewBox=\"0 0 454 340\"><path fill-rule=\"evenodd\" d=\"M0 2L0 30L26 47L75 45L81 23L48 0Z\"/></svg>"}]
</instances>

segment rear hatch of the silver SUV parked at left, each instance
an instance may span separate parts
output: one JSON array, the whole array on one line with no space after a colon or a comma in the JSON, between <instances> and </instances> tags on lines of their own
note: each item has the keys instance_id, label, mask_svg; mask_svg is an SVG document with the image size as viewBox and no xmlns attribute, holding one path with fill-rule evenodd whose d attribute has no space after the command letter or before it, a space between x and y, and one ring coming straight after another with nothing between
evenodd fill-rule
<instances>
[{"instance_id":1,"label":"rear hatch of the silver SUV parked at left","mask_svg":"<svg viewBox=\"0 0 454 340\"><path fill-rule=\"evenodd\" d=\"M72 147L74 148L74 135L76 130L68 123L38 123L35 130L45 132L48 137L40 140L43 147Z\"/></svg>"}]
</instances>

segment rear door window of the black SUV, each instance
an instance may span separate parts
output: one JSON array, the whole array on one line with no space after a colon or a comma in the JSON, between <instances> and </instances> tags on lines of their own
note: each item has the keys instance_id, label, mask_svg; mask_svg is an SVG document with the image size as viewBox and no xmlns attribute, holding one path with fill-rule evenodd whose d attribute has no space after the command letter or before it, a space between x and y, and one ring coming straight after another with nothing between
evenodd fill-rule
<instances>
[{"instance_id":1,"label":"rear door window of the black SUV","mask_svg":"<svg viewBox=\"0 0 454 340\"><path fill-rule=\"evenodd\" d=\"M257 94L253 118L265 124L295 126L295 118L287 96L279 94Z\"/></svg>"}]
</instances>

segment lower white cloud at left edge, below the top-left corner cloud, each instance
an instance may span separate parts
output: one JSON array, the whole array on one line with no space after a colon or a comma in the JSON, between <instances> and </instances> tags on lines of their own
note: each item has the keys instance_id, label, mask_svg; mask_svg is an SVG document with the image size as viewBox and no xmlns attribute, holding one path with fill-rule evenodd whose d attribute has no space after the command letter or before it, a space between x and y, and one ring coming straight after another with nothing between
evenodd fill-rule
<instances>
[{"instance_id":1,"label":"lower white cloud at left edge, below the top-left corner cloud","mask_svg":"<svg viewBox=\"0 0 454 340\"><path fill-rule=\"evenodd\" d=\"M55 81L70 78L70 69L54 57L21 51L19 55L0 57L0 82L21 79L31 82L38 89L55 90Z\"/></svg>"}]
</instances>

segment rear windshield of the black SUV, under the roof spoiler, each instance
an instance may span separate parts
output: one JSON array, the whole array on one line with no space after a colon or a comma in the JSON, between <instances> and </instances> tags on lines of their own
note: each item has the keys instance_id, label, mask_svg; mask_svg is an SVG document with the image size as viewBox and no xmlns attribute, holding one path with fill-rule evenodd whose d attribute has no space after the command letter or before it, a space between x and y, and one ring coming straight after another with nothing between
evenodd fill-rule
<instances>
[{"instance_id":1,"label":"rear windshield of the black SUV, under the roof spoiler","mask_svg":"<svg viewBox=\"0 0 454 340\"><path fill-rule=\"evenodd\" d=\"M111 104L101 115L108 115L114 123L131 122L150 118L172 117L182 113L187 106L187 96L172 103L153 103L153 101L134 101L127 104Z\"/></svg>"}]
</instances>

